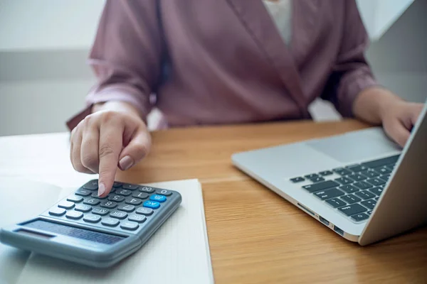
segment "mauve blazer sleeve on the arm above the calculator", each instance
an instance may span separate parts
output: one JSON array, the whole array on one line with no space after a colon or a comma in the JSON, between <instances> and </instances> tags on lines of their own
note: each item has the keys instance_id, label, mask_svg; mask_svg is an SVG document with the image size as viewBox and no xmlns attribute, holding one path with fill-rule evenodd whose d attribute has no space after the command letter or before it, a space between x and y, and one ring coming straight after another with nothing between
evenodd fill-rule
<instances>
[{"instance_id":1,"label":"mauve blazer sleeve on the arm above the calculator","mask_svg":"<svg viewBox=\"0 0 427 284\"><path fill-rule=\"evenodd\" d=\"M99 102L129 102L147 119L164 50L158 1L105 2L88 58L97 82L86 96L86 108L67 121L70 130Z\"/></svg>"}]
</instances>

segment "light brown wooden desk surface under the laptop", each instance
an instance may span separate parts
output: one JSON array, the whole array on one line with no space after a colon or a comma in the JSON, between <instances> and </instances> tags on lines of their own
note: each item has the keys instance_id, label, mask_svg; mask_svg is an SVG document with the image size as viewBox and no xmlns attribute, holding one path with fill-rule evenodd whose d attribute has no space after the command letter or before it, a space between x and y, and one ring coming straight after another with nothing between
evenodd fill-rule
<instances>
[{"instance_id":1,"label":"light brown wooden desk surface under the laptop","mask_svg":"<svg viewBox=\"0 0 427 284\"><path fill-rule=\"evenodd\" d=\"M427 229L362 248L231 165L237 151L365 127L301 121L154 132L151 154L117 179L201 180L216 283L427 283Z\"/></svg>"}]
</instances>

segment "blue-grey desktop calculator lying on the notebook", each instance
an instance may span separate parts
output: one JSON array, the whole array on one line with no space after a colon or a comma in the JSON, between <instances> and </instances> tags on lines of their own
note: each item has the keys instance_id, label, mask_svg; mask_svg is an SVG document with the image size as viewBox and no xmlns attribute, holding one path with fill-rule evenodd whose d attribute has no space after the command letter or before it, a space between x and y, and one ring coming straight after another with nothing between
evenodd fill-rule
<instances>
[{"instance_id":1,"label":"blue-grey desktop calculator lying on the notebook","mask_svg":"<svg viewBox=\"0 0 427 284\"><path fill-rule=\"evenodd\" d=\"M114 266L140 249L181 204L174 190L114 182L97 196L97 180L38 217L0 230L0 241L94 268Z\"/></svg>"}]
</instances>

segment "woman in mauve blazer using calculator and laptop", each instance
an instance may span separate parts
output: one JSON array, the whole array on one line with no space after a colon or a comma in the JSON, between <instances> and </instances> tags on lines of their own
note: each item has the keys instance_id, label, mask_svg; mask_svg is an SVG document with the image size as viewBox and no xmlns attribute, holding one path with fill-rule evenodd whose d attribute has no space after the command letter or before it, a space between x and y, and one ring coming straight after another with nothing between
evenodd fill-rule
<instances>
[{"instance_id":1,"label":"woman in mauve blazer using calculator and laptop","mask_svg":"<svg viewBox=\"0 0 427 284\"><path fill-rule=\"evenodd\" d=\"M68 121L73 166L100 173L107 195L117 166L147 155L154 105L174 127L310 119L321 97L404 146L422 105L375 82L367 44L354 0L107 1L90 53L98 82Z\"/></svg>"}]
</instances>

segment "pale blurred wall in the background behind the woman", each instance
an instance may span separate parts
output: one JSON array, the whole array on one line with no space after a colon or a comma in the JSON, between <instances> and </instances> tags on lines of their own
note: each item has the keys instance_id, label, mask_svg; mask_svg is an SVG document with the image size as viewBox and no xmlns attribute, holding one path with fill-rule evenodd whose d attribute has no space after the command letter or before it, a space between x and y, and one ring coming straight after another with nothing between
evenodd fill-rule
<instances>
[{"instance_id":1,"label":"pale blurred wall in the background behind the woman","mask_svg":"<svg viewBox=\"0 0 427 284\"><path fill-rule=\"evenodd\" d=\"M414 1L384 33L393 17L391 10L381 7L399 4L401 13L408 2L358 0L371 37L382 35L368 52L380 82L407 99L421 101L427 89L427 1ZM0 0L0 136L66 131L65 120L82 109L94 82L85 60L103 4L104 0ZM375 16L378 11L385 11L381 21ZM337 117L325 104L314 107L317 119Z\"/></svg>"}]
</instances>

